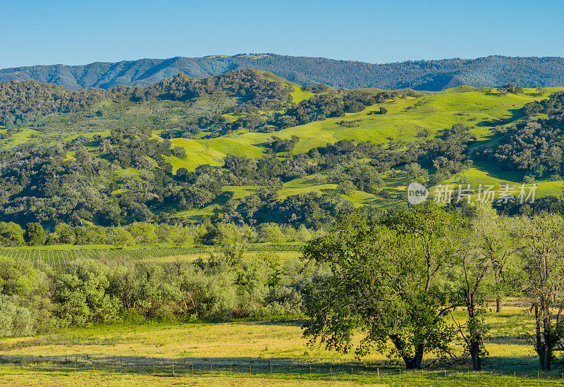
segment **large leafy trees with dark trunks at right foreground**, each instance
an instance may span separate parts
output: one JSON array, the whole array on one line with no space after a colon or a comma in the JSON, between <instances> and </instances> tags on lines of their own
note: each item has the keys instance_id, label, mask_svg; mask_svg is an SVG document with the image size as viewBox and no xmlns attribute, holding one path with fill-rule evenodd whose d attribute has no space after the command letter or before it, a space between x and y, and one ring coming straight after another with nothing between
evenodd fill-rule
<instances>
[{"instance_id":1,"label":"large leafy trees with dark trunks at right foreground","mask_svg":"<svg viewBox=\"0 0 564 387\"><path fill-rule=\"evenodd\" d=\"M480 370L486 300L505 292L527 300L530 337L549 370L564 344L563 241L562 216L506 219L489 204L465 214L433 206L349 214L304 250L330 268L304 289L305 336L357 357L371 350L400 357L408 369L423 367L427 353L455 357L458 336ZM450 315L455 308L466 321Z\"/></svg>"}]
</instances>

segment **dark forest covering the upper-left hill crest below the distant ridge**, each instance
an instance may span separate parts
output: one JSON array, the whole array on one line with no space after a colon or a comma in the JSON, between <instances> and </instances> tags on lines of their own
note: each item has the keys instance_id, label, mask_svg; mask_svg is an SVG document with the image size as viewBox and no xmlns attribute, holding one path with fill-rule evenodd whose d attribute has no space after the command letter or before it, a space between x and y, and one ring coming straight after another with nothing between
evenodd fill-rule
<instances>
[{"instance_id":1,"label":"dark forest covering the upper-left hill crest below the distant ridge","mask_svg":"<svg viewBox=\"0 0 564 387\"><path fill-rule=\"evenodd\" d=\"M71 91L35 80L5 81L0 82L0 125L21 125L51 113L85 111L102 99L116 102L155 99L192 102L215 95L238 98L241 104L250 108L279 110L283 104L290 102L290 92L293 92L293 87L283 84L283 80L270 79L266 73L252 69L231 71L202 80L178 73L148 87L118 85L109 91Z\"/></svg>"}]
</instances>

